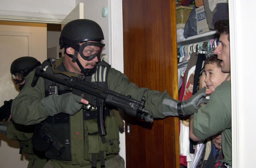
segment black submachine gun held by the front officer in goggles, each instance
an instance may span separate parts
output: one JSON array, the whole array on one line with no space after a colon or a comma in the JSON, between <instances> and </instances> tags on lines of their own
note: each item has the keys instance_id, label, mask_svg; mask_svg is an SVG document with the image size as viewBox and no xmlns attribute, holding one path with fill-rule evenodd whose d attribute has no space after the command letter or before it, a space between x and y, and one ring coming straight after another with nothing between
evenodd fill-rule
<instances>
[{"instance_id":1,"label":"black submachine gun held by the front officer in goggles","mask_svg":"<svg viewBox=\"0 0 256 168\"><path fill-rule=\"evenodd\" d=\"M81 96L82 98L88 100L90 105L97 107L97 123L100 136L106 135L104 116L105 105L123 109L127 114L143 119L149 123L153 122L153 117L149 115L149 111L144 109L144 96L141 98L141 101L138 101L131 98L131 96L119 94L109 89L97 86L96 84L93 84L91 82L85 80L82 81L73 76L69 79L62 79L56 77L54 75L44 72L44 70L40 67L37 67L35 69L35 76L31 84L32 87L36 85L39 77L43 77L64 85L65 90L72 91L73 94ZM81 92L84 94L81 94Z\"/></svg>"}]
</instances>

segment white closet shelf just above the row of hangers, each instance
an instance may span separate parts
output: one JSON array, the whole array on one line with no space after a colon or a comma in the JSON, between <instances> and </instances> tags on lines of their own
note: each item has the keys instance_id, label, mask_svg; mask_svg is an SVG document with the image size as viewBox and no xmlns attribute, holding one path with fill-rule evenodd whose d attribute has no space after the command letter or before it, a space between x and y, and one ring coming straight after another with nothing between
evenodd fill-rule
<instances>
[{"instance_id":1,"label":"white closet shelf just above the row of hangers","mask_svg":"<svg viewBox=\"0 0 256 168\"><path fill-rule=\"evenodd\" d=\"M209 31L202 34L198 34L195 36L188 37L182 42L177 43L177 47L197 42L206 41L209 39L219 38L219 35L216 33L216 31Z\"/></svg>"}]
</instances>

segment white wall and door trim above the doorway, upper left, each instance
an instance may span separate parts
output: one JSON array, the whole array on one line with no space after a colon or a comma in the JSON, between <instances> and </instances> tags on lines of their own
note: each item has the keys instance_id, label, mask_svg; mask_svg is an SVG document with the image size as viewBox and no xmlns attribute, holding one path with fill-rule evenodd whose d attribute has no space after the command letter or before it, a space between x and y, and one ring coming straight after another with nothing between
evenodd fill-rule
<instances>
[{"instance_id":1,"label":"white wall and door trim above the doorway, upper left","mask_svg":"<svg viewBox=\"0 0 256 168\"><path fill-rule=\"evenodd\" d=\"M61 23L75 0L0 0L0 20Z\"/></svg>"}]
</instances>

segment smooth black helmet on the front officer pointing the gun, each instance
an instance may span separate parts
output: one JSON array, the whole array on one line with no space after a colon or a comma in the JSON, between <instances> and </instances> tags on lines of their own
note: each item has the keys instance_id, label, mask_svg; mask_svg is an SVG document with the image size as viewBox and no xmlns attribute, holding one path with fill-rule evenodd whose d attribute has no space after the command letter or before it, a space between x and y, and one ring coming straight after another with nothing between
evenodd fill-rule
<instances>
[{"instance_id":1,"label":"smooth black helmet on the front officer pointing the gun","mask_svg":"<svg viewBox=\"0 0 256 168\"><path fill-rule=\"evenodd\" d=\"M60 34L60 49L68 41L75 43L83 41L101 41L104 35L98 23L88 19L77 19L67 23Z\"/></svg>"}]
</instances>

